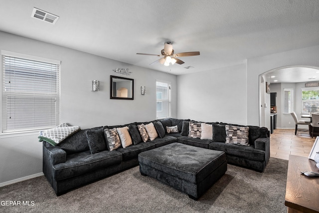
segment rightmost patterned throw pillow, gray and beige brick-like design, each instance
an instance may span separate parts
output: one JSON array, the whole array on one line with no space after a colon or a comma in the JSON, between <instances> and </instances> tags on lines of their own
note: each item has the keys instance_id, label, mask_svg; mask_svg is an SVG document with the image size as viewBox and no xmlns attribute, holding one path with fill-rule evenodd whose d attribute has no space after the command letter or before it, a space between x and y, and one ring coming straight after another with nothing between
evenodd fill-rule
<instances>
[{"instance_id":1,"label":"rightmost patterned throw pillow, gray and beige brick-like design","mask_svg":"<svg viewBox=\"0 0 319 213\"><path fill-rule=\"evenodd\" d=\"M249 146L249 127L236 127L225 125L226 129L226 144L238 144Z\"/></svg>"}]
</instances>

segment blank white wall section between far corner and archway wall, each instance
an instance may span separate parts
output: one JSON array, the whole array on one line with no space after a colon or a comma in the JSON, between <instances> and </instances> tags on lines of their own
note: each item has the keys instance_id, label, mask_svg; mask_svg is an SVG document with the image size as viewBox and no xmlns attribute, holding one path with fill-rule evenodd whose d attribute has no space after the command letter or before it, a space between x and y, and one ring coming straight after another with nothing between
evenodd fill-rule
<instances>
[{"instance_id":1,"label":"blank white wall section between far corner and archway wall","mask_svg":"<svg viewBox=\"0 0 319 213\"><path fill-rule=\"evenodd\" d=\"M177 76L177 117L245 125L246 64Z\"/></svg>"}]
</instances>

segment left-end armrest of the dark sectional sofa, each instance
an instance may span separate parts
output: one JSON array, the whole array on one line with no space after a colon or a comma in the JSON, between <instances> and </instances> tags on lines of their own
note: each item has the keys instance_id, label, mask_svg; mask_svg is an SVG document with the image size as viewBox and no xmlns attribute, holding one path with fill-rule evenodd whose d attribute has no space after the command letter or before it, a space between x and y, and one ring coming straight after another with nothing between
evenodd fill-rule
<instances>
[{"instance_id":1,"label":"left-end armrest of the dark sectional sofa","mask_svg":"<svg viewBox=\"0 0 319 213\"><path fill-rule=\"evenodd\" d=\"M66 161L66 152L59 147L43 147L43 158L51 162L53 166Z\"/></svg>"}]
</instances>

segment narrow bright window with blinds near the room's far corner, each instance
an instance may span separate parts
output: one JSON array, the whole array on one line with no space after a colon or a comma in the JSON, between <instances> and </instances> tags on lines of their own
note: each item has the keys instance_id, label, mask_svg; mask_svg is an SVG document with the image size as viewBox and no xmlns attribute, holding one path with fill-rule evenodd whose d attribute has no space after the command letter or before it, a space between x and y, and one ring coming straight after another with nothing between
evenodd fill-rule
<instances>
[{"instance_id":1,"label":"narrow bright window with blinds near the room's far corner","mask_svg":"<svg viewBox=\"0 0 319 213\"><path fill-rule=\"evenodd\" d=\"M170 82L156 81L156 118L170 117Z\"/></svg>"}]
</instances>

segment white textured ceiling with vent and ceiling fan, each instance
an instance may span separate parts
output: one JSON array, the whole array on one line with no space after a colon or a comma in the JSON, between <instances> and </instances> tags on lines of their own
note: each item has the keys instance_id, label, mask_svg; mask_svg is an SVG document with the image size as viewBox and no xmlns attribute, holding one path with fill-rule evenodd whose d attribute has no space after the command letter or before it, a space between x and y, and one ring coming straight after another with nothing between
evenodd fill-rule
<instances>
[{"instance_id":1,"label":"white textured ceiling with vent and ceiling fan","mask_svg":"<svg viewBox=\"0 0 319 213\"><path fill-rule=\"evenodd\" d=\"M58 21L32 18L33 7ZM180 75L319 45L319 0L0 0L0 30ZM165 41L200 55L168 67L136 55Z\"/></svg>"}]
</instances>

